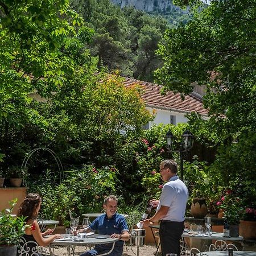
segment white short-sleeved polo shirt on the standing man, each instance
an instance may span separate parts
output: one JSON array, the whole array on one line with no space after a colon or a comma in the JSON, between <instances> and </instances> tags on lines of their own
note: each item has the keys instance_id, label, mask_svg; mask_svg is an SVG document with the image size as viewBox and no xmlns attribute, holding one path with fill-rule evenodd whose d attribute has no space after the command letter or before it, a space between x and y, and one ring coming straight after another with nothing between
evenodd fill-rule
<instances>
[{"instance_id":1,"label":"white short-sleeved polo shirt on the standing man","mask_svg":"<svg viewBox=\"0 0 256 256\"><path fill-rule=\"evenodd\" d=\"M161 206L169 207L163 220L179 222L185 220L184 216L188 201L188 188L178 176L171 177L171 179L164 184L159 201L160 203L156 211L158 211Z\"/></svg>"}]
</instances>

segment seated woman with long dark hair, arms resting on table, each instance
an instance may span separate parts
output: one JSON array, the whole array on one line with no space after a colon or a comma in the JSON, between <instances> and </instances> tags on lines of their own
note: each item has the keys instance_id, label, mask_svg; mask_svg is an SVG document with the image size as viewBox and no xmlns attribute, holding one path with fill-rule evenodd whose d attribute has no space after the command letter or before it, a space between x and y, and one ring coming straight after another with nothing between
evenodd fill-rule
<instances>
[{"instance_id":1,"label":"seated woman with long dark hair, arms resting on table","mask_svg":"<svg viewBox=\"0 0 256 256\"><path fill-rule=\"evenodd\" d=\"M49 234L52 234L52 229L47 229L46 232L41 233L36 217L38 216L42 199L36 193L29 193L24 199L23 203L20 205L17 217L24 216L27 217L27 224L30 225L29 228L25 229L25 234L23 238L26 242L36 242L39 246L48 246L56 238L60 238L60 234L55 234L47 238L43 238ZM36 245L28 245L30 248L30 254L36 253ZM33 254L34 255L34 254Z\"/></svg>"}]
</instances>

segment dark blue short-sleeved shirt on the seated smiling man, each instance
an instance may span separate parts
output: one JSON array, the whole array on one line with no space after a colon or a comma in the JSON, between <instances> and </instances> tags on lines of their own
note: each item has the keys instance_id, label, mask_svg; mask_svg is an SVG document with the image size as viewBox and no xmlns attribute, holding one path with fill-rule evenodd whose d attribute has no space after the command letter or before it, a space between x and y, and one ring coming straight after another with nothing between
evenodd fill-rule
<instances>
[{"instance_id":1,"label":"dark blue short-sleeved shirt on the seated smiling man","mask_svg":"<svg viewBox=\"0 0 256 256\"><path fill-rule=\"evenodd\" d=\"M108 218L106 214L102 214L97 217L96 220L90 224L90 229L93 232L98 231L98 234L106 234L111 236L112 234L122 234L124 231L128 231L128 225L121 214L115 213L112 218ZM123 246L123 241L119 240L115 245Z\"/></svg>"}]
</instances>

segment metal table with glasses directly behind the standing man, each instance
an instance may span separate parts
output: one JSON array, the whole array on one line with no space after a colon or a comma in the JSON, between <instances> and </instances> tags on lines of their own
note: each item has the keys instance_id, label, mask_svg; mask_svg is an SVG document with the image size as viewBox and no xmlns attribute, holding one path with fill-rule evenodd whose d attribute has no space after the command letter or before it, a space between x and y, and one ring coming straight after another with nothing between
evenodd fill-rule
<instances>
[{"instance_id":1,"label":"metal table with glasses directly behind the standing man","mask_svg":"<svg viewBox=\"0 0 256 256\"><path fill-rule=\"evenodd\" d=\"M154 237L156 253L159 253L159 245L156 243L155 235L152 230L152 229L159 229L159 225L150 225L149 227L150 227L152 235ZM208 246L212 243L212 240L224 240L224 241L242 241L243 240L243 237L241 237L241 236L239 236L239 237L223 237L223 233L217 233L217 232L213 232L212 236L199 236L199 234L188 234L188 232L183 232L181 237L182 237L181 252L185 252L184 238L205 240L204 245L203 245L203 246L205 246L205 249L208 249ZM192 247L196 247L196 246L192 246ZM201 248L199 248L199 250L201 251ZM256 255L256 253L255 253L255 255Z\"/></svg>"}]
</instances>

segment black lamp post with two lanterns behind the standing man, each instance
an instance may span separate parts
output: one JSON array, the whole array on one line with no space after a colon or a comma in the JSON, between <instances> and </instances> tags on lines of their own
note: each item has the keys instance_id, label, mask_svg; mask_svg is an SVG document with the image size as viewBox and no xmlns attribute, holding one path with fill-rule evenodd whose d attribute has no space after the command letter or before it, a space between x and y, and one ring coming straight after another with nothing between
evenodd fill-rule
<instances>
[{"instance_id":1,"label":"black lamp post with two lanterns behind the standing man","mask_svg":"<svg viewBox=\"0 0 256 256\"><path fill-rule=\"evenodd\" d=\"M170 129L166 133L166 142L167 149L170 152L179 152L180 153L180 179L183 180L183 154L184 152L188 152L193 147L194 137L190 131L184 131L181 135L181 142L179 146L179 150L171 150L174 146L175 137L171 133Z\"/></svg>"}]
</instances>

